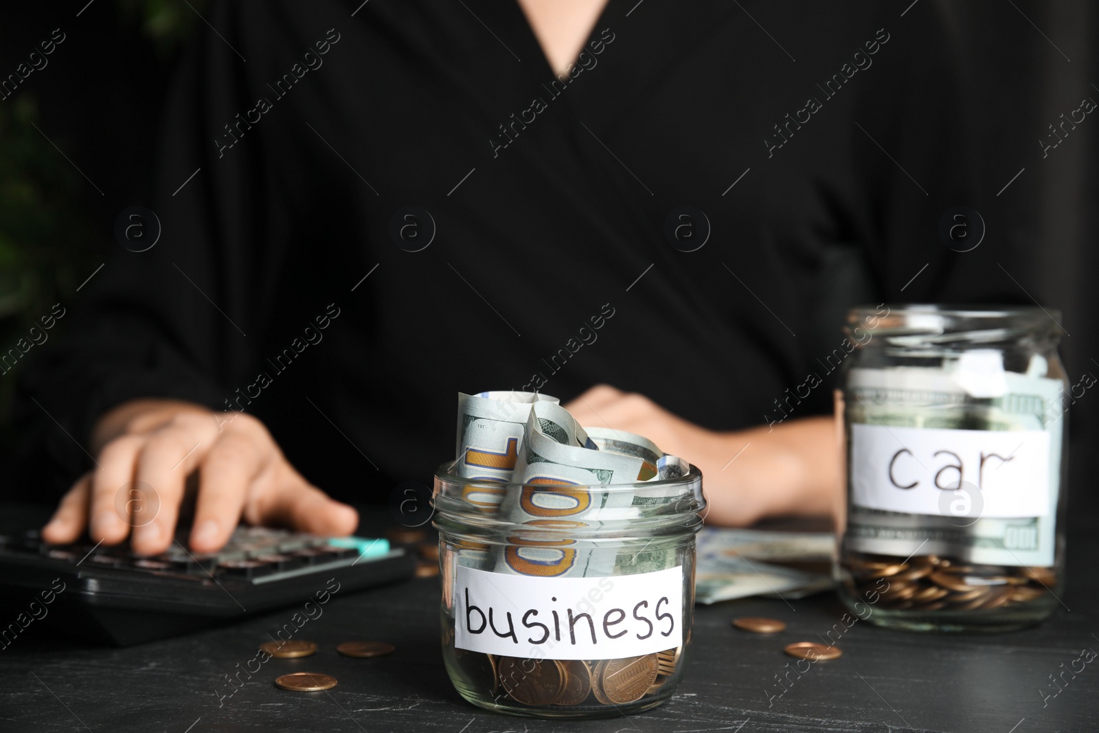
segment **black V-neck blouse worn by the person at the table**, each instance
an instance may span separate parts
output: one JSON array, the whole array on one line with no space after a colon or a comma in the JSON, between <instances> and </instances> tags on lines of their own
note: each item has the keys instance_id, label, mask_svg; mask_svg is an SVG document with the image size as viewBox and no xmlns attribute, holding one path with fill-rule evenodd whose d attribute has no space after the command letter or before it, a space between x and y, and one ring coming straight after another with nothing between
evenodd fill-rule
<instances>
[{"instance_id":1,"label":"black V-neck blouse worn by the person at the table","mask_svg":"<svg viewBox=\"0 0 1099 733\"><path fill-rule=\"evenodd\" d=\"M790 417L826 411L845 308L979 297L937 234L968 203L946 34L902 10L610 0L558 78L513 0L217 4L159 240L112 243L26 390L81 443L134 397L246 410L359 501L453 458L459 390L732 430L815 374Z\"/></svg>"}]
</instances>

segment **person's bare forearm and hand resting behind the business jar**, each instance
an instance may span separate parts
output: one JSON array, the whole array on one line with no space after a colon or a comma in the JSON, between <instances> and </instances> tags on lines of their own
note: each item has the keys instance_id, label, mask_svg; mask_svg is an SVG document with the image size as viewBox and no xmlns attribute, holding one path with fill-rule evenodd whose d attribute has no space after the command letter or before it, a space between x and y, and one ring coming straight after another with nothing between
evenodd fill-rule
<instances>
[{"instance_id":1,"label":"person's bare forearm and hand resting behind the business jar","mask_svg":"<svg viewBox=\"0 0 1099 733\"><path fill-rule=\"evenodd\" d=\"M747 525L777 514L828 514L840 496L840 448L831 418L717 432L607 385L565 406L581 425L643 435L702 471L707 520Z\"/></svg>"}]
</instances>

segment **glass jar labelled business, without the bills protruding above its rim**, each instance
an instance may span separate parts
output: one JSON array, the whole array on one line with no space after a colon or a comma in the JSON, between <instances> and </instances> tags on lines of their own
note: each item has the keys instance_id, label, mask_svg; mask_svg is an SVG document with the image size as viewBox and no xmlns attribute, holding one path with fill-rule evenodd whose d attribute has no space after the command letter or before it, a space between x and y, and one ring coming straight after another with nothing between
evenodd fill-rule
<instances>
[{"instance_id":1,"label":"glass jar labelled business, without the bills protruding above its rim","mask_svg":"<svg viewBox=\"0 0 1099 733\"><path fill-rule=\"evenodd\" d=\"M444 465L434 506L443 659L462 697L536 718L618 717L671 697L695 606L698 468L577 486Z\"/></svg>"}]
</instances>

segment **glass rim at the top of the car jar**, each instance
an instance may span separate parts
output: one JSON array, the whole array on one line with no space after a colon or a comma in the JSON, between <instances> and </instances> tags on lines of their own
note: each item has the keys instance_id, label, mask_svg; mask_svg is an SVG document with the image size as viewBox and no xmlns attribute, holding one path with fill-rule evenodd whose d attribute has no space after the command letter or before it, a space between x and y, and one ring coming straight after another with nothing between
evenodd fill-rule
<instances>
[{"instance_id":1,"label":"glass rim at the top of the car jar","mask_svg":"<svg viewBox=\"0 0 1099 733\"><path fill-rule=\"evenodd\" d=\"M884 312L882 312L884 309ZM867 322L875 321L872 326ZM984 333L992 338L1029 333L1062 336L1061 311L1042 306L1001 303L880 303L847 311L848 331L859 326L882 334Z\"/></svg>"}]
</instances>

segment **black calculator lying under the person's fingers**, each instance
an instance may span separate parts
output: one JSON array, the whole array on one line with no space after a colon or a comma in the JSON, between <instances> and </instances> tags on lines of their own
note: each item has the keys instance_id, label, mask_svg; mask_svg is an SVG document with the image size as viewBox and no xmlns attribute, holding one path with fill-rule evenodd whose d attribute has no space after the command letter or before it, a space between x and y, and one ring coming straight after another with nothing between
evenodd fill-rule
<instances>
[{"instance_id":1,"label":"black calculator lying under the person's fingers","mask_svg":"<svg viewBox=\"0 0 1099 733\"><path fill-rule=\"evenodd\" d=\"M48 545L37 531L0 535L0 604L14 635L66 635L125 646L411 577L417 558L388 540L237 527L211 554L180 534L164 554L126 545ZM31 628L33 626L33 629Z\"/></svg>"}]
</instances>

